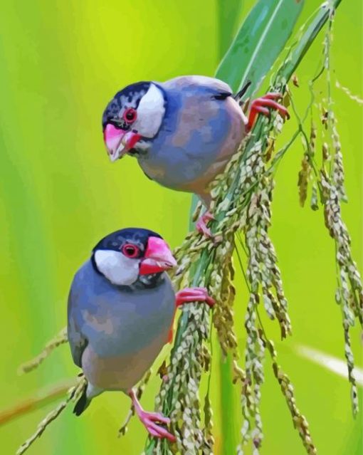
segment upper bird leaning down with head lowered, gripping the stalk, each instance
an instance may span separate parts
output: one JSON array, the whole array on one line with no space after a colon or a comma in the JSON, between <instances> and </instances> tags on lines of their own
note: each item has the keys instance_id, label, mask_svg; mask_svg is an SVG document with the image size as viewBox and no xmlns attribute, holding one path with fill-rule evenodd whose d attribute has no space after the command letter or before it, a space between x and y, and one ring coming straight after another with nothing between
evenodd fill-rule
<instances>
[{"instance_id":1,"label":"upper bird leaning down with head lowered, gripping the stalk","mask_svg":"<svg viewBox=\"0 0 363 455\"><path fill-rule=\"evenodd\" d=\"M206 207L196 228L211 236L206 226L213 219L209 184L238 150L258 113L270 115L268 108L273 108L288 117L288 110L277 102L280 93L253 100L246 117L239 100L249 84L236 95L227 83L203 75L127 85L102 114L111 161L136 157L149 179L196 194Z\"/></svg>"}]
</instances>

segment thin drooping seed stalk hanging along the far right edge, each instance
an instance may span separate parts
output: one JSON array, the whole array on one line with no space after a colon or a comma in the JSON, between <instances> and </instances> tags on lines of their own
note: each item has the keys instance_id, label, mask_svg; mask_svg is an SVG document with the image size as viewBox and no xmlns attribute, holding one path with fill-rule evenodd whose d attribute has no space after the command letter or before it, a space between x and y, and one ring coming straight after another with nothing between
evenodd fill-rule
<instances>
[{"instance_id":1,"label":"thin drooping seed stalk hanging along the far right edge","mask_svg":"<svg viewBox=\"0 0 363 455\"><path fill-rule=\"evenodd\" d=\"M342 311L342 325L344 330L344 354L347 360L349 382L352 387L352 410L354 416L358 412L357 384L354 377L354 356L350 341L350 329L354 327L358 320L360 325L363 323L363 286L362 280L357 270L357 264L352 258L350 248L351 239L347 226L342 220L341 203L347 202L347 194L344 188L344 167L342 157L342 145L337 130L337 120L334 113L334 103L332 100L332 70L330 51L332 46L332 25L334 14L330 14L329 26L325 33L323 56L324 62L322 69L317 77L326 75L326 98L321 100L321 111L319 113L322 140L321 165L315 159L315 140L316 130L312 132L313 140L310 135L310 142L307 141L302 121L299 120L300 133L305 147L305 155L310 167L310 176L302 176L299 173L300 200L302 192L305 192L306 182L312 181L312 194L310 206L317 210L319 203L317 189L320 192L320 201L323 208L325 226L330 236L335 240L335 260L337 268L337 291L335 300L340 305ZM316 80L317 78L315 78ZM313 85L311 84L312 96L315 97ZM316 99L315 99L316 103ZM296 112L295 112L296 113ZM296 113L297 114L297 113ZM312 108L312 115L314 108ZM305 158L304 158L305 159ZM303 160L304 161L304 160ZM303 170L303 169L302 169ZM313 172L311 172L311 170ZM307 186L307 185L306 185Z\"/></svg>"}]
</instances>

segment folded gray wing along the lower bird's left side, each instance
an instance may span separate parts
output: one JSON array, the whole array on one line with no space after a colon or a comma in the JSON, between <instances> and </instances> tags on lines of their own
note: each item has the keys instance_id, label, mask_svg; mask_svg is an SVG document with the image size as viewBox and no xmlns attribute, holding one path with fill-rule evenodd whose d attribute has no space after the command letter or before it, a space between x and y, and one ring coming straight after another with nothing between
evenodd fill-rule
<instances>
[{"instance_id":1,"label":"folded gray wing along the lower bird's left side","mask_svg":"<svg viewBox=\"0 0 363 455\"><path fill-rule=\"evenodd\" d=\"M70 293L68 296L68 341L70 345L70 352L72 353L73 362L78 367L82 367L82 355L85 347L88 344L87 338L81 331L82 315L78 305L80 298L80 283L79 276L76 274L73 279L72 286L70 286Z\"/></svg>"}]
</instances>

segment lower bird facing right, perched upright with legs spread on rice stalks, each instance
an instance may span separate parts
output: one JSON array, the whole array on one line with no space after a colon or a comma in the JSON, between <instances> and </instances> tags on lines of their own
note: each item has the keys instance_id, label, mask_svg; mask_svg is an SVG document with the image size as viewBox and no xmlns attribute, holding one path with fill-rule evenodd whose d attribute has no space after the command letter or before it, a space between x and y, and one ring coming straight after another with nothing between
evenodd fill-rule
<instances>
[{"instance_id":1,"label":"lower bird facing right, perched upright with legs spread on rice stalks","mask_svg":"<svg viewBox=\"0 0 363 455\"><path fill-rule=\"evenodd\" d=\"M79 416L105 391L122 391L149 434L175 441L169 418L142 408L135 385L167 342L176 308L214 299L205 288L175 293L167 271L177 266L154 231L127 228L108 234L78 269L68 296L68 340L87 387L73 410Z\"/></svg>"}]
</instances>

